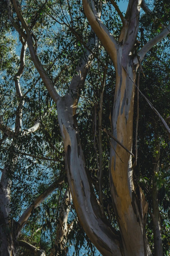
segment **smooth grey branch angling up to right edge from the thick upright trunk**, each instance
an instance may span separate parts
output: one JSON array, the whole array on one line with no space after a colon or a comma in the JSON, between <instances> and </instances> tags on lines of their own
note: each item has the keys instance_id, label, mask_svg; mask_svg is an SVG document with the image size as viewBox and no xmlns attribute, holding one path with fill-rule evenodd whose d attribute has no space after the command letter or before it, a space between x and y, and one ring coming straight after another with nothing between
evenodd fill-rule
<instances>
[{"instance_id":1,"label":"smooth grey branch angling up to right edge from the thick upright trunk","mask_svg":"<svg viewBox=\"0 0 170 256\"><path fill-rule=\"evenodd\" d=\"M170 33L170 24L158 35L156 35L154 38L149 40L148 43L146 43L138 52L138 56L140 58L140 61L142 61L147 54L147 52L157 43L159 43L165 36L167 36ZM134 58L134 64L138 67L138 60L137 57Z\"/></svg>"}]
</instances>

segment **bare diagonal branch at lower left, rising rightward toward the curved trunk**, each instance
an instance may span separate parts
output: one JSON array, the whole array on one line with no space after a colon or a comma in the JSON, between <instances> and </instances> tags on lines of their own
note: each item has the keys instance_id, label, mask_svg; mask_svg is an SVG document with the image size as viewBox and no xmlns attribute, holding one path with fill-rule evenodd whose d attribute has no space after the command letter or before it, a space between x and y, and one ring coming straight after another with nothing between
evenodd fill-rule
<instances>
[{"instance_id":1,"label":"bare diagonal branch at lower left, rising rightward toward the curved trunk","mask_svg":"<svg viewBox=\"0 0 170 256\"><path fill-rule=\"evenodd\" d=\"M53 182L40 196L38 196L34 202L25 210L25 212L21 215L19 220L17 221L18 227L16 230L16 238L19 236L22 228L28 221L33 209L38 207L46 198L49 196L59 185L64 182L64 176L61 176L55 182Z\"/></svg>"}]
</instances>

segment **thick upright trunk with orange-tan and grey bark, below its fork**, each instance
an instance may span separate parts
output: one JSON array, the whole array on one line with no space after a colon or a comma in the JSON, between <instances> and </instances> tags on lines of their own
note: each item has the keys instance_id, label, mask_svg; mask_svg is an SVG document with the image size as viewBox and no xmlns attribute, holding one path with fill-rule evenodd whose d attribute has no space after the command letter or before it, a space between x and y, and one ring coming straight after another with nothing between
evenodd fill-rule
<instances>
[{"instance_id":1,"label":"thick upright trunk with orange-tan and grey bark, below its fork","mask_svg":"<svg viewBox=\"0 0 170 256\"><path fill-rule=\"evenodd\" d=\"M113 107L113 135L132 151L133 108L135 87L126 74L135 81L131 57L119 48L117 55L116 89ZM110 187L123 246L126 255L146 256L147 244L143 239L140 202L136 199L133 183L132 156L112 140L110 149ZM146 240L146 239L145 239ZM150 252L149 252L150 253Z\"/></svg>"}]
</instances>

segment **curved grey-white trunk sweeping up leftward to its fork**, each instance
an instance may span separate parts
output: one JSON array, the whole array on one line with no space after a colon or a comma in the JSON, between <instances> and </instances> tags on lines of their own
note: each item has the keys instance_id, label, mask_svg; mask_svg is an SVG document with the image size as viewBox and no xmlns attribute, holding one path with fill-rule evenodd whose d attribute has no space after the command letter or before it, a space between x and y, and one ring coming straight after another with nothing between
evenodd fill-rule
<instances>
[{"instance_id":1,"label":"curved grey-white trunk sweeping up leftward to its fork","mask_svg":"<svg viewBox=\"0 0 170 256\"><path fill-rule=\"evenodd\" d=\"M123 255L118 241L120 237L101 213L89 182L75 118L76 108L68 94L57 102L57 114L64 141L67 177L78 219L102 255Z\"/></svg>"}]
</instances>

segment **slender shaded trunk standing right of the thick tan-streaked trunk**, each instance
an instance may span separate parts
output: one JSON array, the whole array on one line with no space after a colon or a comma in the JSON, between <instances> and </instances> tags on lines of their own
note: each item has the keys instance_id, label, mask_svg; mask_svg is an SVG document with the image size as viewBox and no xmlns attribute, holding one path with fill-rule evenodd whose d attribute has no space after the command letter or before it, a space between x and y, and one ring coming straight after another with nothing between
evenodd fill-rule
<instances>
[{"instance_id":1,"label":"slender shaded trunk standing right of the thick tan-streaked trunk","mask_svg":"<svg viewBox=\"0 0 170 256\"><path fill-rule=\"evenodd\" d=\"M156 132L155 132L155 150L156 150L156 156L154 158L151 218L153 223L154 255L163 256L161 222L160 222L159 200L158 200L159 189L157 186L157 174L159 172L159 158L160 158L160 143L158 142L158 136Z\"/></svg>"}]
</instances>

